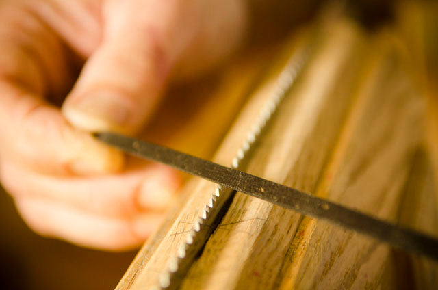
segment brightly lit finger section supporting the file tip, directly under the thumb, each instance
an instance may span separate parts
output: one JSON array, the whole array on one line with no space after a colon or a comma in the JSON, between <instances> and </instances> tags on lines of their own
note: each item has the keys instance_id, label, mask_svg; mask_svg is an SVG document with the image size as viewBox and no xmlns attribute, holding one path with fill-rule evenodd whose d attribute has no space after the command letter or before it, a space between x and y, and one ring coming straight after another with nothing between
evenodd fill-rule
<instances>
[{"instance_id":1,"label":"brightly lit finger section supporting the file tip, directly under the thumb","mask_svg":"<svg viewBox=\"0 0 438 290\"><path fill-rule=\"evenodd\" d=\"M0 80L1 154L41 172L101 174L123 166L123 155L73 128L60 111Z\"/></svg>"}]
</instances>

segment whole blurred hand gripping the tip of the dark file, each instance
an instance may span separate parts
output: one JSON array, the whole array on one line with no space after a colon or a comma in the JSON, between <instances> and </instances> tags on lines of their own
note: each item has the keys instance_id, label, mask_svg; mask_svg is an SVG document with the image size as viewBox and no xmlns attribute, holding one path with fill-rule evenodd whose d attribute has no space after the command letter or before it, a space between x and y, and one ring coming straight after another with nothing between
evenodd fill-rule
<instances>
[{"instance_id":1,"label":"whole blurred hand gripping the tip of the dark file","mask_svg":"<svg viewBox=\"0 0 438 290\"><path fill-rule=\"evenodd\" d=\"M0 181L40 235L139 246L177 174L90 132L135 135L166 85L227 57L246 31L236 0L0 0ZM57 104L57 105L54 105Z\"/></svg>"}]
</instances>

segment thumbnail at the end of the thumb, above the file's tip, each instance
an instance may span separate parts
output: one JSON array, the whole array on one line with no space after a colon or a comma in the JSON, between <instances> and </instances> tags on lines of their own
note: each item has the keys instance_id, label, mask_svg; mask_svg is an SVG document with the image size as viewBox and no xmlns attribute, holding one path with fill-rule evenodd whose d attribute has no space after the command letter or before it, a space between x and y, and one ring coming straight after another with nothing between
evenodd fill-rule
<instances>
[{"instance_id":1,"label":"thumbnail at the end of the thumb, above the file's tip","mask_svg":"<svg viewBox=\"0 0 438 290\"><path fill-rule=\"evenodd\" d=\"M62 108L64 116L87 131L123 131L132 114L129 99L114 92L99 92L67 101Z\"/></svg>"}]
</instances>

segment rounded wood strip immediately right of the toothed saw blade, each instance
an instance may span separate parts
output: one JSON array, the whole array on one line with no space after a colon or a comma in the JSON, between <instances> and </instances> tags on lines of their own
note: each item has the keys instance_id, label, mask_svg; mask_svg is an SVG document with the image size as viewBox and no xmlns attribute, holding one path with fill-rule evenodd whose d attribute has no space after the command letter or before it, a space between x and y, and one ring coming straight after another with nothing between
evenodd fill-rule
<instances>
[{"instance_id":1,"label":"rounded wood strip immediately right of the toothed saw blade","mask_svg":"<svg viewBox=\"0 0 438 290\"><path fill-rule=\"evenodd\" d=\"M359 68L351 64L363 41L351 23L333 28L322 33L318 53L261 137L247 172L314 192L350 106L348 77ZM237 194L183 289L270 289L301 218Z\"/></svg>"}]
</instances>

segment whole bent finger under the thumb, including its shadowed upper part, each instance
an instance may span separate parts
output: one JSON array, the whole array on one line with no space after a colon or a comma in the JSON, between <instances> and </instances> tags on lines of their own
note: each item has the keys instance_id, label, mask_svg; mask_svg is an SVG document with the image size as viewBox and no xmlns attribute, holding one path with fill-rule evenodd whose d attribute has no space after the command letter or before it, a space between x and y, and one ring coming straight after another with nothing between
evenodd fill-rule
<instances>
[{"instance_id":1,"label":"whole bent finger under the thumb, including its shadowed upper part","mask_svg":"<svg viewBox=\"0 0 438 290\"><path fill-rule=\"evenodd\" d=\"M119 170L120 153L73 129L42 101L70 77L60 41L20 5L1 5L0 16L0 154L57 174Z\"/></svg>"}]
</instances>

